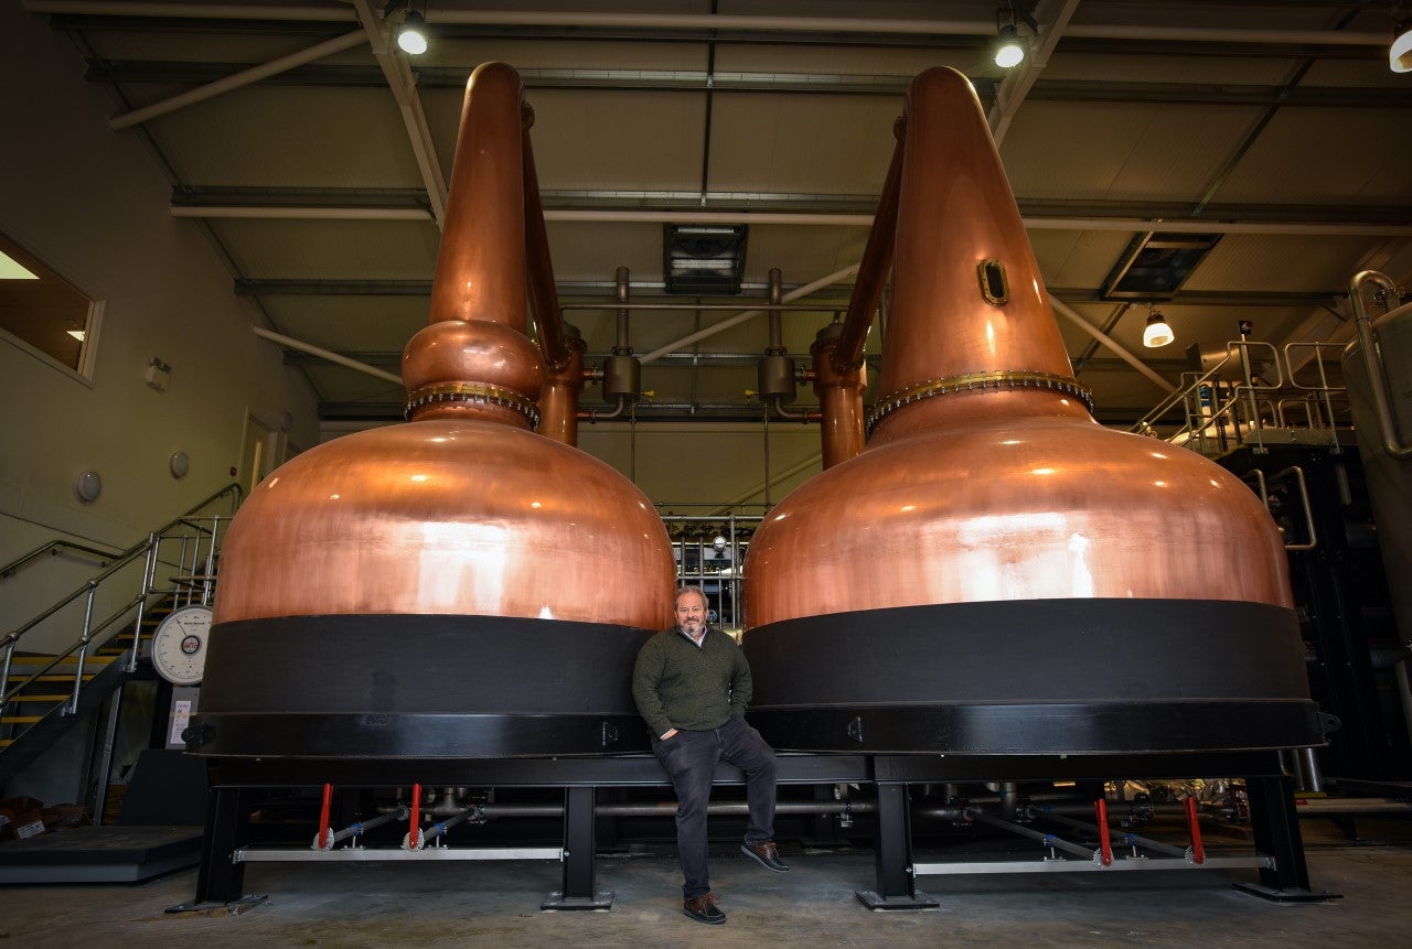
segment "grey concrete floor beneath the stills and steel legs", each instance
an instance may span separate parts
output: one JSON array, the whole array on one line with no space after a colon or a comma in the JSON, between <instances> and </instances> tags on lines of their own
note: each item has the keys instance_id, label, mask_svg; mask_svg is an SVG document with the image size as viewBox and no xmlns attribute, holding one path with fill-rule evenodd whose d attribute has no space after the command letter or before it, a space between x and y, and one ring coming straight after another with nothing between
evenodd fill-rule
<instances>
[{"instance_id":1,"label":"grey concrete floor beneath the stills and steel legs","mask_svg":"<svg viewBox=\"0 0 1412 949\"><path fill-rule=\"evenodd\" d=\"M544 912L559 864L254 863L247 894L268 900L239 915L169 915L192 898L195 870L143 884L0 888L4 945L121 946L1282 946L1358 949L1409 945L1408 825L1360 822L1350 843L1326 821L1306 821L1315 888L1341 898L1278 904L1233 881L1254 870L988 874L925 877L935 911L867 910L856 890L875 886L868 850L784 843L788 874L768 873L722 843L713 887L729 922L682 915L669 849L603 856L597 887L609 911ZM1209 853L1226 853L1227 845ZM1231 855L1248 852L1230 850ZM919 853L919 860L931 859ZM979 859L979 857L971 857Z\"/></svg>"}]
</instances>

